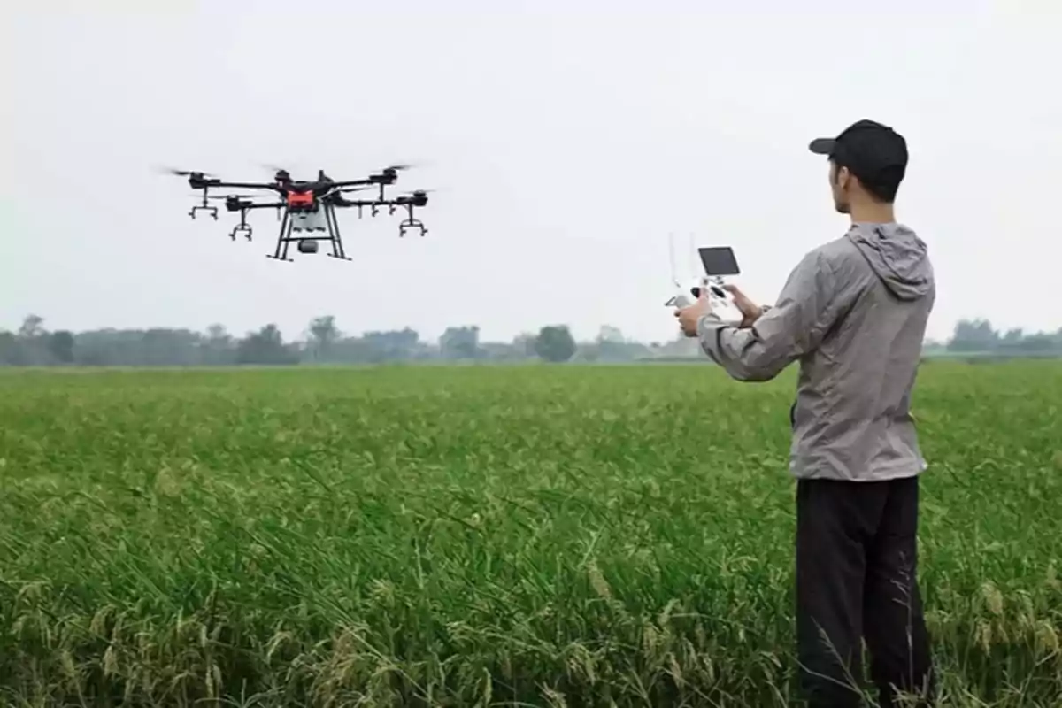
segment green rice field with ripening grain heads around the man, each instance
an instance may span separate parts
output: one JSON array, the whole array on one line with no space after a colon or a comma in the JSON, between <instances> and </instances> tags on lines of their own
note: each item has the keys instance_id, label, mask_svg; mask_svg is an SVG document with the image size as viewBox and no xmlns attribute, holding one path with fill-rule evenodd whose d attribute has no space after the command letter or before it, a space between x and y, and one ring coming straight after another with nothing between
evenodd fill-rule
<instances>
[{"instance_id":1,"label":"green rice field with ripening grain heads around the man","mask_svg":"<svg viewBox=\"0 0 1062 708\"><path fill-rule=\"evenodd\" d=\"M794 380L2 372L0 705L793 705ZM1062 705L1062 363L915 415L943 705Z\"/></svg>"}]
</instances>

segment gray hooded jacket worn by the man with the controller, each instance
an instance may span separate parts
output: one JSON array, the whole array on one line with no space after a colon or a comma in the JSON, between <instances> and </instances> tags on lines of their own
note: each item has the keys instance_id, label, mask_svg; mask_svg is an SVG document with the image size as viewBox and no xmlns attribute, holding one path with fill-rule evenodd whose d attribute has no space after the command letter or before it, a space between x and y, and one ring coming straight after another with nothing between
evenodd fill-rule
<instances>
[{"instance_id":1,"label":"gray hooded jacket worn by the man with the controller","mask_svg":"<svg viewBox=\"0 0 1062 708\"><path fill-rule=\"evenodd\" d=\"M701 348L731 377L766 381L800 361L790 471L879 481L920 473L911 388L936 299L926 244L901 224L857 223L807 254L750 328L708 314Z\"/></svg>"}]
</instances>

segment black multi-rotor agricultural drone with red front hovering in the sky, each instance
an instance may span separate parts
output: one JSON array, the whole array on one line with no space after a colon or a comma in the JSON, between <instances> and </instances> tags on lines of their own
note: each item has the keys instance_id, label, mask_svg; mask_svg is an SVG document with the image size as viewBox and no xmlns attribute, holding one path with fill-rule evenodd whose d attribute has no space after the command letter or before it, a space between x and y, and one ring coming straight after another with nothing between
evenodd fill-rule
<instances>
[{"instance_id":1,"label":"black multi-rotor agricultural drone with red front hovering in the sky","mask_svg":"<svg viewBox=\"0 0 1062 708\"><path fill-rule=\"evenodd\" d=\"M320 241L330 242L331 253L328 256L353 260L343 249L339 220L336 218L337 209L357 209L359 219L364 217L366 210L371 217L376 217L382 210L392 215L398 209L405 209L407 218L398 224L398 236L405 237L411 230L419 231L422 237L427 235L428 229L424 223L413 217L413 209L427 205L428 192L431 190L406 192L393 198L388 198L384 194L384 188L398 179L398 172L409 168L409 165L392 165L365 178L347 180L332 179L324 170L319 170L316 179L312 182L295 182L287 170L278 168L271 183L225 182L207 172L174 169L166 171L188 177L188 185L193 190L202 192L202 203L193 206L188 212L192 219L195 219L196 214L206 213L217 221L218 207L210 204L211 200L223 200L227 211L240 212L240 223L228 234L233 241L241 235L247 241L252 240L253 230L247 224L249 211L275 209L276 219L280 222L280 232L277 236L276 249L268 257L292 261L293 259L288 258L288 248L293 242L298 244L298 253L315 254ZM244 193L210 194L211 189L261 190L272 194L258 195L257 198L267 201L256 201L255 195ZM349 192L371 189L379 190L376 198L348 200L344 196Z\"/></svg>"}]
</instances>

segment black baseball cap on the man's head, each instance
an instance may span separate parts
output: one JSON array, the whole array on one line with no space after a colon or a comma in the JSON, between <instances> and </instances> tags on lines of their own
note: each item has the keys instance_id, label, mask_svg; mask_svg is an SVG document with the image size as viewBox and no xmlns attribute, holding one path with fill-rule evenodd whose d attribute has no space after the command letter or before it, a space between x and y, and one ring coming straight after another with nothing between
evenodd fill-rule
<instances>
[{"instance_id":1,"label":"black baseball cap on the man's head","mask_svg":"<svg viewBox=\"0 0 1062 708\"><path fill-rule=\"evenodd\" d=\"M888 125L856 121L836 138L817 138L808 145L816 155L827 155L846 167L859 182L876 191L895 192L907 172L907 141Z\"/></svg>"}]
</instances>

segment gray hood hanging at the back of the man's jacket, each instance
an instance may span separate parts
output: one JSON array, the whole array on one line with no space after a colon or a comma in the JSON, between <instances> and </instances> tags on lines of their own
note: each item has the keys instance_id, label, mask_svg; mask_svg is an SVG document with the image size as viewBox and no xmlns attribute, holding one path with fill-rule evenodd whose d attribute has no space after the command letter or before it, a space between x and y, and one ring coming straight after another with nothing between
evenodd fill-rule
<instances>
[{"instance_id":1,"label":"gray hood hanging at the back of the man's jacket","mask_svg":"<svg viewBox=\"0 0 1062 708\"><path fill-rule=\"evenodd\" d=\"M928 248L912 229L896 223L856 223L847 236L893 295L915 300L929 294Z\"/></svg>"}]
</instances>

